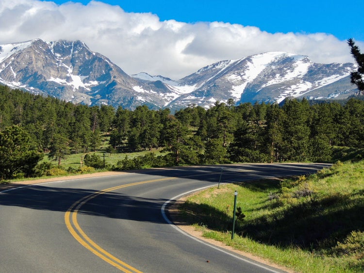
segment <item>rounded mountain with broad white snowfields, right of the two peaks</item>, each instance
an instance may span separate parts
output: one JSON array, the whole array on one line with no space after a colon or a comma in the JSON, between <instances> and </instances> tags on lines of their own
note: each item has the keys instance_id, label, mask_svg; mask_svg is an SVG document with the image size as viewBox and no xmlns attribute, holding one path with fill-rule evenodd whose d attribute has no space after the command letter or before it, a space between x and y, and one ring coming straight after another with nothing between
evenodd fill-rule
<instances>
[{"instance_id":1,"label":"rounded mountain with broad white snowfields, right of the two peaks","mask_svg":"<svg viewBox=\"0 0 364 273\"><path fill-rule=\"evenodd\" d=\"M315 64L307 56L267 52L239 60L221 61L179 81L194 86L170 107L211 105L233 98L239 102L281 102L287 96L310 99L346 98L357 92L350 83L355 64Z\"/></svg>"}]
</instances>

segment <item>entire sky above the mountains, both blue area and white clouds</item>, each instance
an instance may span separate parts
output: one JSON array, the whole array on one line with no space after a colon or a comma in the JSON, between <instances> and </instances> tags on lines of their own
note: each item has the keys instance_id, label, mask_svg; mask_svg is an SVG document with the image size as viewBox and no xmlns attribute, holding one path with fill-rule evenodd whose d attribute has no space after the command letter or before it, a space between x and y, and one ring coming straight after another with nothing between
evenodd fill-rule
<instances>
[{"instance_id":1,"label":"entire sky above the mountains, both blue area and white clouds","mask_svg":"<svg viewBox=\"0 0 364 273\"><path fill-rule=\"evenodd\" d=\"M350 4L350 5L349 5ZM283 51L314 63L364 50L364 0L0 0L0 45L81 40L132 75L173 80L222 60ZM351 8L354 7L354 10Z\"/></svg>"}]
</instances>

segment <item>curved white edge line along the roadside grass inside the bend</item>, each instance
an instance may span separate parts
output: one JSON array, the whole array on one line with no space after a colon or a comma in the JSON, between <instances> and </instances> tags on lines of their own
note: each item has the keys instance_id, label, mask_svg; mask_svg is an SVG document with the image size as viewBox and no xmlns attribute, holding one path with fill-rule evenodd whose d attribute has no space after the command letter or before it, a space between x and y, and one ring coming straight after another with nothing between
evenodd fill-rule
<instances>
[{"instance_id":1,"label":"curved white edge line along the roadside grass inside the bend","mask_svg":"<svg viewBox=\"0 0 364 273\"><path fill-rule=\"evenodd\" d=\"M229 183L233 183L233 182L229 182ZM223 184L228 184L228 183L220 183L220 185L223 185ZM189 194L189 193L193 193L193 192L198 192L198 191L201 191L201 190L204 190L204 189L207 189L207 188L211 188L211 187L215 187L215 185L213 185L213 186L206 186L206 187L202 187L202 188L195 189L195 190L192 190L192 191L188 191L188 192L185 192L185 193L181 193L181 194L178 194L178 195L176 195L176 196L174 196L174 197L170 198L168 201L166 201L166 202L163 204L163 206L162 206L162 208L161 208L162 215L163 215L163 218L165 219L165 221L166 221L166 222L167 222L167 223L168 223L171 227L173 227L173 228L174 228L174 229L176 229L177 231L181 232L183 235L185 235L185 236L187 236L187 237L189 237L189 238L191 238L191 239L193 239L193 240L195 240L195 241L198 241L199 243L202 243L202 244L204 244L204 245L207 245L207 246L209 246L209 247L211 247L211 248L214 248L215 250L218 250L218 251L220 251L220 252L222 252L222 253L224 253L224 254L230 255L230 256L232 256L232 257L234 257L234 258L237 258L237 259L239 259L239 260L242 260L242 261L245 261L245 262L247 262L247 263L253 264L253 265L257 266L257 267L263 268L263 269L265 269L265 270L267 270L267 271L270 271L270 272L273 272L273 273L281 273L282 271L275 271L275 270L273 270L273 269L271 269L271 268L269 268L269 267L266 267L266 266L264 266L264 265L262 265L262 264L260 264L260 263L256 263L256 262L254 262L254 261L252 261L252 260L248 260L248 259L245 259L245 258L242 258L242 257L236 256L236 255L234 255L234 254L232 254L232 253L230 253L230 252L227 252L227 251L225 251L225 250L223 250L223 249L221 249L221 248L218 248L218 247L216 247L216 246L214 246L214 245L212 245L212 244L210 244L210 243L207 243L207 242L205 242L205 241L199 240L198 238L196 238L196 237L194 237L194 236L192 236L192 235L190 235L190 234L188 234L188 233L184 232L181 228L179 228L178 226L174 225L174 224L173 224L173 223L172 223L172 222L168 219L167 215L165 214L165 208L166 208L166 206L167 206L170 202L173 202L174 200L178 200L178 199L179 199L181 196L183 196L183 195L187 195L187 194Z\"/></svg>"}]
</instances>

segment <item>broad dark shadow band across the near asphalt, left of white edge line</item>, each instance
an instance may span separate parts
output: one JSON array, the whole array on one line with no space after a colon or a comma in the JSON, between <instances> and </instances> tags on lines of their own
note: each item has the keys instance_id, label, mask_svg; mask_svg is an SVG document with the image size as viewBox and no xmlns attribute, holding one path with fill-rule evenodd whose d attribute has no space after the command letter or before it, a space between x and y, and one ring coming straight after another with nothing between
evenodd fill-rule
<instances>
[{"instance_id":1,"label":"broad dark shadow band across the near asphalt, left of white edge line","mask_svg":"<svg viewBox=\"0 0 364 273\"><path fill-rule=\"evenodd\" d=\"M99 192L33 185L0 193L0 206L66 212L75 202L96 193ZM165 224L160 210L166 201L166 199L141 198L123 193L101 192L83 204L78 213Z\"/></svg>"}]
</instances>

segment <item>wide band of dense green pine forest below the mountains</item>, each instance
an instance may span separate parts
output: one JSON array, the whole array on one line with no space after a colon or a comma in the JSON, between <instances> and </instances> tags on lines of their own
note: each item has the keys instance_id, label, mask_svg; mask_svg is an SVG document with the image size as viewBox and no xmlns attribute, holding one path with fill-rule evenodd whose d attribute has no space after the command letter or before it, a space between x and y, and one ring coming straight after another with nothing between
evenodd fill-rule
<instances>
[{"instance_id":1,"label":"wide band of dense green pine forest below the mountains","mask_svg":"<svg viewBox=\"0 0 364 273\"><path fill-rule=\"evenodd\" d=\"M59 162L70 152L99 149L105 134L110 135L109 151L163 147L170 152L170 165L331 161L334 145L364 146L364 101L311 105L288 98L281 106L235 106L230 99L209 109L190 105L171 114L147 106L131 111L75 105L0 86L0 137L13 126L31 136L37 152Z\"/></svg>"}]
</instances>

